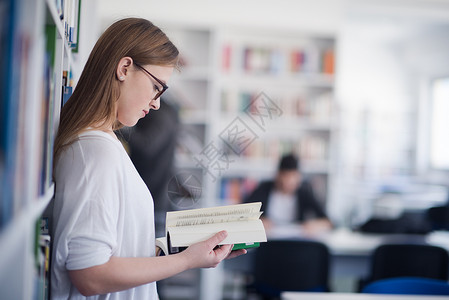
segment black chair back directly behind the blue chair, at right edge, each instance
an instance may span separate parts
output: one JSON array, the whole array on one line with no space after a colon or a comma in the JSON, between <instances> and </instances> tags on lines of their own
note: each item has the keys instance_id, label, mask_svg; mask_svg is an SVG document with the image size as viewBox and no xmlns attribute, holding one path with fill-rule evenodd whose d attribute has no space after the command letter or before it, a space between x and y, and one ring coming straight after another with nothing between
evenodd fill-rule
<instances>
[{"instance_id":1,"label":"black chair back directly behind the blue chair, at right edge","mask_svg":"<svg viewBox=\"0 0 449 300\"><path fill-rule=\"evenodd\" d=\"M448 252L424 244L386 244L373 253L370 281L391 277L448 279Z\"/></svg>"}]
</instances>

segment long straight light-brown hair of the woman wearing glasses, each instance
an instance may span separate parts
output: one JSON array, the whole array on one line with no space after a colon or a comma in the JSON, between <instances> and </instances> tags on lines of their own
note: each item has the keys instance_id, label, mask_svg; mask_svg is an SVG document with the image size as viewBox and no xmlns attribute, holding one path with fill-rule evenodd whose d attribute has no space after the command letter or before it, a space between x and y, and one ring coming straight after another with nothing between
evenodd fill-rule
<instances>
[{"instance_id":1,"label":"long straight light-brown hair of the woman wearing glasses","mask_svg":"<svg viewBox=\"0 0 449 300\"><path fill-rule=\"evenodd\" d=\"M178 54L165 33L148 20L127 18L112 24L92 49L73 95L61 110L55 159L89 127L122 127L116 121L120 96L116 70L121 58L131 57L140 65L177 67Z\"/></svg>"}]
</instances>

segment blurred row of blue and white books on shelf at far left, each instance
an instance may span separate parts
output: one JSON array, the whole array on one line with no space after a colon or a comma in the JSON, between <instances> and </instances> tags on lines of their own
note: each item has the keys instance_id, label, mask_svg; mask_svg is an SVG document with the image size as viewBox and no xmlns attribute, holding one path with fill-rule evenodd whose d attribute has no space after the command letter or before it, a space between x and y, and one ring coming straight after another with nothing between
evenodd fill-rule
<instances>
[{"instance_id":1,"label":"blurred row of blue and white books on shelf at far left","mask_svg":"<svg viewBox=\"0 0 449 300\"><path fill-rule=\"evenodd\" d=\"M21 18L21 4L11 1L9 8L17 5L17 11L7 11L11 19L6 22L14 25L13 19ZM5 68L0 105L0 228L52 184L55 103L61 101L55 99L61 88L55 86L60 76L54 70L56 24L46 25L43 34L30 35L19 26L5 25L3 31L4 21L0 20L0 34L5 43L0 48L9 69Z\"/></svg>"}]
</instances>

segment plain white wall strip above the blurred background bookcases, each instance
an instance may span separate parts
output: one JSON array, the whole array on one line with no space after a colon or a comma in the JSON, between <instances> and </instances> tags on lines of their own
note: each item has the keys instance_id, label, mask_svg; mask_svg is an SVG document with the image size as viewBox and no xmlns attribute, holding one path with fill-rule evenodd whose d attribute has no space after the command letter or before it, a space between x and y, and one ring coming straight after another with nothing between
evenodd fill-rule
<instances>
[{"instance_id":1,"label":"plain white wall strip above the blurred background bookcases","mask_svg":"<svg viewBox=\"0 0 449 300\"><path fill-rule=\"evenodd\" d=\"M108 24L124 16L188 25L226 25L335 33L347 0L99 0L100 19Z\"/></svg>"}]
</instances>

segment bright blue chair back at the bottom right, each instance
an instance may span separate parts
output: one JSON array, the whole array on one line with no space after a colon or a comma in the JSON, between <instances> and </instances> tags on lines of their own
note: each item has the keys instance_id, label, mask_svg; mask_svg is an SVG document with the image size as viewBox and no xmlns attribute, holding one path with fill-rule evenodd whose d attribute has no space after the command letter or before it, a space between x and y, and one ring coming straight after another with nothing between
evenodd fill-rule
<instances>
[{"instance_id":1,"label":"bright blue chair back at the bottom right","mask_svg":"<svg viewBox=\"0 0 449 300\"><path fill-rule=\"evenodd\" d=\"M374 281L362 290L370 294L449 295L449 283L445 280L397 277Z\"/></svg>"}]
</instances>

